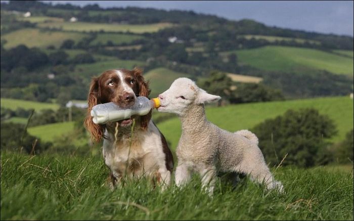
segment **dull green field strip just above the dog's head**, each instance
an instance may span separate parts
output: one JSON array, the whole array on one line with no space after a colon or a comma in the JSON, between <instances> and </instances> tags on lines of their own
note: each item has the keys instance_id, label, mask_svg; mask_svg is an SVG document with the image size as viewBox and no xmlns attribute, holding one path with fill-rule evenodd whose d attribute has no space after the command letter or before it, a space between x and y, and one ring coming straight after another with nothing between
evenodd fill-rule
<instances>
[{"instance_id":1,"label":"dull green field strip just above the dog's head","mask_svg":"<svg viewBox=\"0 0 354 221\"><path fill-rule=\"evenodd\" d=\"M92 64L80 64L75 67L75 74L86 77L86 79L91 80L93 76L99 76L106 70L109 69L133 69L134 67L141 67L145 62L135 61L135 60L110 60L101 61Z\"/></svg>"}]
</instances>

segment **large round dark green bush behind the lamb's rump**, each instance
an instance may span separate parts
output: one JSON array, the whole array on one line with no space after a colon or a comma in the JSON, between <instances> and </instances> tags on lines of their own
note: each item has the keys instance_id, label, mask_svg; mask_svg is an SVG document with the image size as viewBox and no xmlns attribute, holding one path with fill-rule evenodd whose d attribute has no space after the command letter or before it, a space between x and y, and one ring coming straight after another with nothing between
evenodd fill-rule
<instances>
[{"instance_id":1,"label":"large round dark green bush behind the lamb's rump","mask_svg":"<svg viewBox=\"0 0 354 221\"><path fill-rule=\"evenodd\" d=\"M336 134L333 120L316 109L288 110L274 119L256 125L252 131L259 139L267 163L310 167L331 160L326 139Z\"/></svg>"}]
</instances>

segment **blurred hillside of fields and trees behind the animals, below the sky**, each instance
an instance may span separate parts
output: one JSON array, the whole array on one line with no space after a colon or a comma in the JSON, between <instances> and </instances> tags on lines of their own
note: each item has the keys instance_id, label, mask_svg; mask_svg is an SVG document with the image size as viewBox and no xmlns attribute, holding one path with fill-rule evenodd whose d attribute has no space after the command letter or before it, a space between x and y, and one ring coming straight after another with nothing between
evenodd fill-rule
<instances>
[{"instance_id":1,"label":"blurred hillside of fields and trees behind the animals, below the sky","mask_svg":"<svg viewBox=\"0 0 354 221\"><path fill-rule=\"evenodd\" d=\"M150 80L150 98L178 77L222 96L208 119L255 131L272 164L286 153L285 162L304 167L352 164L352 35L50 1L1 3L1 149L99 153L82 124L91 78L136 66ZM153 119L174 150L179 119L156 111Z\"/></svg>"}]
</instances>

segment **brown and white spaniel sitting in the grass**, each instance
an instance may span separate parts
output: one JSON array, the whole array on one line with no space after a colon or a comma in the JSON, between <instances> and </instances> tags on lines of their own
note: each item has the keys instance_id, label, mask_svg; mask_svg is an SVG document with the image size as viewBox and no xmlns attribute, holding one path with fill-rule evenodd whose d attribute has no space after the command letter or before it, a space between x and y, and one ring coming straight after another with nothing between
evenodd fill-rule
<instances>
[{"instance_id":1,"label":"brown and white spaniel sitting in the grass","mask_svg":"<svg viewBox=\"0 0 354 221\"><path fill-rule=\"evenodd\" d=\"M173 157L164 136L151 120L151 111L145 116L133 115L128 119L95 124L90 111L97 104L114 102L121 107L132 106L139 96L148 97L148 82L142 70L134 68L114 69L94 77L88 96L89 107L84 125L91 138L103 140L103 157L111 169L110 187L114 187L124 175L140 177L148 175L166 187L170 183ZM132 122L135 128L131 134ZM132 139L130 140L130 138Z\"/></svg>"}]
</instances>

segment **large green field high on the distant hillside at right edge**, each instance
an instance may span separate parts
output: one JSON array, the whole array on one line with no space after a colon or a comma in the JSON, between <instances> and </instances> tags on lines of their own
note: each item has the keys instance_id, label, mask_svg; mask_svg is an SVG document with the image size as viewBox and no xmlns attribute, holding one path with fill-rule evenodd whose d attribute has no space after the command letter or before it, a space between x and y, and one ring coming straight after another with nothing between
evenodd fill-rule
<instances>
[{"instance_id":1,"label":"large green field high on the distant hillside at right edge","mask_svg":"<svg viewBox=\"0 0 354 221\"><path fill-rule=\"evenodd\" d=\"M353 59L305 48L265 46L257 49L236 50L240 64L267 71L327 70L336 74L353 75Z\"/></svg>"}]
</instances>

